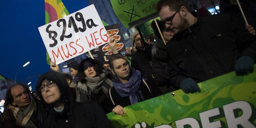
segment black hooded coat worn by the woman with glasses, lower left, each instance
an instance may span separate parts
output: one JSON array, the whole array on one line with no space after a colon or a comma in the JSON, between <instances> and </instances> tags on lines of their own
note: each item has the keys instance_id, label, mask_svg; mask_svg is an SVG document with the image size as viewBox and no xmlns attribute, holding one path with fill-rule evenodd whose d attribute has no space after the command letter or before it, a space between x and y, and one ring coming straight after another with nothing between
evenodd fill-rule
<instances>
[{"instance_id":1,"label":"black hooded coat worn by the woman with glasses, lower left","mask_svg":"<svg viewBox=\"0 0 256 128\"><path fill-rule=\"evenodd\" d=\"M112 128L105 112L96 103L79 103L73 100L73 95L65 77L61 73L48 72L37 82L37 95L43 99L39 87L43 80L54 81L61 92L60 101L64 103L64 110L56 112L53 105L48 105L50 115L43 128ZM45 103L45 102L44 102Z\"/></svg>"}]
</instances>

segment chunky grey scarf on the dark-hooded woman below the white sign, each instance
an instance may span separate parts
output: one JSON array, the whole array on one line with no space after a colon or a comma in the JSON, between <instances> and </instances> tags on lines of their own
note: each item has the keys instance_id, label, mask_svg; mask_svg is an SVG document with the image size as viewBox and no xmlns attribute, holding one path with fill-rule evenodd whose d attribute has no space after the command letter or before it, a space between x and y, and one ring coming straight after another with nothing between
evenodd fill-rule
<instances>
[{"instance_id":1,"label":"chunky grey scarf on the dark-hooded woman below the white sign","mask_svg":"<svg viewBox=\"0 0 256 128\"><path fill-rule=\"evenodd\" d=\"M77 101L82 102L82 101L91 101L91 93L97 94L98 91L102 89L104 94L106 96L108 93L108 90L113 87L113 82L107 78L106 73L101 73L100 76L96 76L94 78L85 78L86 83L81 83L78 82L78 86L76 88L77 90ZM85 95L89 99L81 99L84 98Z\"/></svg>"}]
</instances>

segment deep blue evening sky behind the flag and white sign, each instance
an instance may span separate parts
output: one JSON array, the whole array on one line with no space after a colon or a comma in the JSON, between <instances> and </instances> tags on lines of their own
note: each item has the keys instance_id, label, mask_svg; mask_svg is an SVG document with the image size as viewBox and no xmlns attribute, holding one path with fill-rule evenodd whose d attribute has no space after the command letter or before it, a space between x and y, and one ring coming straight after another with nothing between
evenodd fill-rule
<instances>
[{"instance_id":1,"label":"deep blue evening sky behind the flag and white sign","mask_svg":"<svg viewBox=\"0 0 256 128\"><path fill-rule=\"evenodd\" d=\"M62 0L69 13L88 6L88 0ZM0 74L27 85L50 70L38 27L45 25L44 0L0 1ZM30 61L30 64L23 65Z\"/></svg>"}]
</instances>

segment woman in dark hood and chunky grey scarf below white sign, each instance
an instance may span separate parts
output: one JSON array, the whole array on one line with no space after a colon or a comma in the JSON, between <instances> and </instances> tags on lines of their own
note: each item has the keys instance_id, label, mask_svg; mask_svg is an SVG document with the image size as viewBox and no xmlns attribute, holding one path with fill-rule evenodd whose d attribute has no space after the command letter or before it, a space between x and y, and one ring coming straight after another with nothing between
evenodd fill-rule
<instances>
[{"instance_id":1,"label":"woman in dark hood and chunky grey scarf below white sign","mask_svg":"<svg viewBox=\"0 0 256 128\"><path fill-rule=\"evenodd\" d=\"M80 62L78 76L80 82L76 87L76 100L78 102L91 101L100 105L105 113L112 110L108 100L108 90L113 82L108 78L109 72L104 72L102 64L95 59L86 58Z\"/></svg>"}]
</instances>

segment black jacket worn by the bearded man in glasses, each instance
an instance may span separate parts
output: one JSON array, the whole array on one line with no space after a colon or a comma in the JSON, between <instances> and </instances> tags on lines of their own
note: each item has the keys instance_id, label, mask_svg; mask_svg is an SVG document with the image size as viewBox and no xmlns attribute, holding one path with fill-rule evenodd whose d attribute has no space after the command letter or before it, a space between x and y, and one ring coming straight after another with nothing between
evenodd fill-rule
<instances>
[{"instance_id":1,"label":"black jacket worn by the bearded man in glasses","mask_svg":"<svg viewBox=\"0 0 256 128\"><path fill-rule=\"evenodd\" d=\"M226 14L198 16L197 23L166 45L171 83L185 78L205 81L234 71L235 61L248 55L256 62L256 37Z\"/></svg>"}]
</instances>

